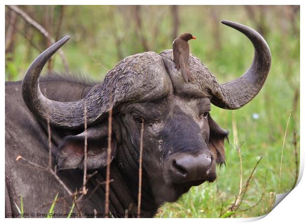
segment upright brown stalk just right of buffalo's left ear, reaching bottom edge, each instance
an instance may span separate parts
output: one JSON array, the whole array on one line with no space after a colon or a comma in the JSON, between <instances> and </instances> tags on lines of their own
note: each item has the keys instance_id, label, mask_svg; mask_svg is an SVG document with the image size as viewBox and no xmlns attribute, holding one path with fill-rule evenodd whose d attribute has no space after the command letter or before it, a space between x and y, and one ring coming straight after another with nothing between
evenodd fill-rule
<instances>
[{"instance_id":1,"label":"upright brown stalk just right of buffalo's left ear, reaching bottom edge","mask_svg":"<svg viewBox=\"0 0 305 223\"><path fill-rule=\"evenodd\" d=\"M108 148L107 148L107 167L106 167L105 213L109 212L111 134L112 134L112 104L110 104L109 117L108 117ZM108 216L106 215L105 218L108 218Z\"/></svg>"}]
</instances>

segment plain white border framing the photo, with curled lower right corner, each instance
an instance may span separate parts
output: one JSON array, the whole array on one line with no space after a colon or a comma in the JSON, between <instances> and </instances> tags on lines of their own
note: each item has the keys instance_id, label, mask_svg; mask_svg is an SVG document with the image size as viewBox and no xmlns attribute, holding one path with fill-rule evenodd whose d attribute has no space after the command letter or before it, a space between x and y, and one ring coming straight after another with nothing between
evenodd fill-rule
<instances>
[{"instance_id":1,"label":"plain white border framing the photo, with curled lower right corner","mask_svg":"<svg viewBox=\"0 0 305 223\"><path fill-rule=\"evenodd\" d=\"M245 2L244 0L230 0L230 2L225 1L225 0L207 0L207 1L198 1L198 0L168 0L168 1L160 1L160 0L148 0L148 1L143 1L143 0L129 0L129 1L122 1L122 0L104 0L104 1L94 1L94 0L86 0L86 1L81 1L81 0L74 0L74 1L64 1L64 0L45 0L43 2L38 1L38 0L28 0L28 1L21 1L21 0L4 0L3 2L3 7L2 7L2 16L4 18L5 15L5 4L75 4L75 5L81 5L81 4L210 4L210 5L216 5L216 4L223 4L223 5L243 5L243 4L270 4L270 5L280 5L280 4L298 4L301 5L301 40L303 39L302 37L304 37L304 5L302 5L302 2L300 0L290 0L289 2L287 1L282 1L282 0L277 0L277 1L270 1L270 0L256 0L256 1L247 1ZM5 25L4 25L4 21L1 23L1 30L5 29ZM2 64L2 86L4 86L4 74L5 74L5 66L4 66L4 59L5 59L5 55L4 55L4 49L5 49L5 41L4 41L4 32L2 34L2 45L1 45L1 64ZM304 61L304 44L301 41L301 61ZM301 63L301 70L300 73L302 74L300 76L300 80L301 80L301 94L300 94L300 101L301 101L301 114L304 114L303 112L305 112L304 109L304 103L302 103L303 101L303 92L304 90L304 65L303 63ZM2 106L4 107L4 87L2 88L2 94L0 94L0 102L2 104ZM2 180L4 179L4 132L5 132L5 126L4 126L4 109L2 108L1 110L1 133L0 137L1 137L1 142L2 142L2 167L1 167L1 177ZM300 135L303 136L304 133L304 118L303 116L300 117ZM300 177L299 177L299 181L303 175L304 172L304 140L301 137L301 141L300 141L300 148L301 148L301 162L300 162ZM4 182L2 182L2 184L0 185L1 189L2 189L2 195L4 192ZM267 215L265 218L249 218L249 219L187 219L187 221L196 221L196 222L251 222L251 221L256 221L256 220L260 220L260 222L299 222L301 219L304 219L304 201L305 201L305 180L301 180L299 182L299 184L296 186L296 188L286 197L284 198L283 201L281 201L275 208L274 210ZM2 202L0 204L0 207L2 210L2 216L4 217L4 199L2 199ZM7 221L7 219L5 219ZM29 221L29 219L27 220ZM30 221L41 221L41 219L38 220L33 220L30 219ZM57 220L58 221L58 220ZM59 220L59 221L64 221L64 220ZM72 221L84 221L84 219L75 219ZM89 220L90 221L90 220ZM94 220L92 219L91 221L98 221L98 220ZM102 221L113 221L113 220L102 220ZM120 220L116 220L116 221L120 221ZM125 219L125 220L121 220L121 221L140 221L137 219ZM148 219L145 221L156 221L155 219ZM169 221L168 219L157 219L157 221ZM183 219L175 219L174 221L184 221Z\"/></svg>"}]
</instances>

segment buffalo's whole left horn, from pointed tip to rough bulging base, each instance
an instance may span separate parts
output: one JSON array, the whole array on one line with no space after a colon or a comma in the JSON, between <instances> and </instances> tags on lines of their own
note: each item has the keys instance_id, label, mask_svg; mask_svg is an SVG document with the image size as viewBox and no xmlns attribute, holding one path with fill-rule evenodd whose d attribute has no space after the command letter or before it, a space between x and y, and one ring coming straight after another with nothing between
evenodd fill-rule
<instances>
[{"instance_id":1,"label":"buffalo's whole left horn, from pointed tip to rough bulging base","mask_svg":"<svg viewBox=\"0 0 305 223\"><path fill-rule=\"evenodd\" d=\"M170 91L171 80L164 75L166 70L162 58L155 52L144 52L123 59L107 73L103 83L92 87L84 99L69 102L47 99L39 89L39 75L48 59L69 38L66 36L43 51L31 63L22 80L23 99L30 111L44 121L49 119L53 126L83 127L85 103L87 124L92 125L103 120L111 107L123 102L161 98Z\"/></svg>"}]
</instances>

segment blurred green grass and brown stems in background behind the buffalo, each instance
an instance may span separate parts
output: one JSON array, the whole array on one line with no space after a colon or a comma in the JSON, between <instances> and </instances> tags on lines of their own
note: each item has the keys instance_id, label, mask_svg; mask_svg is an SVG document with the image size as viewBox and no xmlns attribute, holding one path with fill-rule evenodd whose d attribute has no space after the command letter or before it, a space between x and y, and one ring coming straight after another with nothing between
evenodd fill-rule
<instances>
[{"instance_id":1,"label":"blurred green grass and brown stems in background behind the buffalo","mask_svg":"<svg viewBox=\"0 0 305 223\"><path fill-rule=\"evenodd\" d=\"M275 194L294 187L300 154L299 6L27 5L19 8L55 40L70 35L71 40L62 48L69 72L88 74L96 80L102 80L122 58L148 50L171 49L179 34L190 32L197 37L190 42L191 53L223 83L244 73L251 64L253 48L243 34L221 25L220 21L232 20L257 30L266 39L273 56L264 87L240 110L213 106L211 112L213 119L230 131L226 166L217 170L215 182L193 187L179 202L164 204L156 217L216 218L226 210L235 210L232 204L240 191L240 177L243 176L244 183L261 156L237 213L232 212L231 217L266 214L272 210ZM21 80L31 61L51 44L8 7L5 7L5 37L6 81ZM45 69L66 68L57 53Z\"/></svg>"}]
</instances>

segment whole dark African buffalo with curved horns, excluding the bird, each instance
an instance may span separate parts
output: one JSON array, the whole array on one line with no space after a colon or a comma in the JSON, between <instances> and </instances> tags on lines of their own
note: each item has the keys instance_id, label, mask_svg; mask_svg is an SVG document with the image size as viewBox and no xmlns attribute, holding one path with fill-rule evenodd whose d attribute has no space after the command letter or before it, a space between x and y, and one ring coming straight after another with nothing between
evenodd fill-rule
<instances>
[{"instance_id":1,"label":"whole dark African buffalo with curved horns, excluding the bird","mask_svg":"<svg viewBox=\"0 0 305 223\"><path fill-rule=\"evenodd\" d=\"M103 83L52 74L39 81L48 59L69 39L64 37L42 52L30 65L23 81L5 84L5 213L17 214L23 197L25 212L47 213L57 193L67 196L49 172L37 170L21 155L48 165L47 120L51 124L52 159L58 175L71 191L83 184L84 124L87 107L88 193L79 203L81 212L104 212L108 114L113 107L110 211L136 213L139 148L142 120L142 217L152 217L166 201L176 201L190 187L216 178L216 164L225 162L228 131L216 124L211 104L239 109L262 88L271 67L266 41L253 29L223 21L242 32L253 44L250 68L241 77L218 84L193 55L185 82L175 69L172 50L128 56L109 71ZM40 90L41 89L41 90ZM44 89L46 91L44 91ZM47 97L45 97L45 92ZM48 115L49 114L49 115ZM94 190L95 189L95 190ZM58 202L55 213L68 213L72 198ZM76 208L74 212L77 213ZM10 214L11 213L11 214ZM129 215L132 217L132 215ZM90 217L90 216L89 216ZM119 217L118 215L116 217Z\"/></svg>"}]
</instances>

